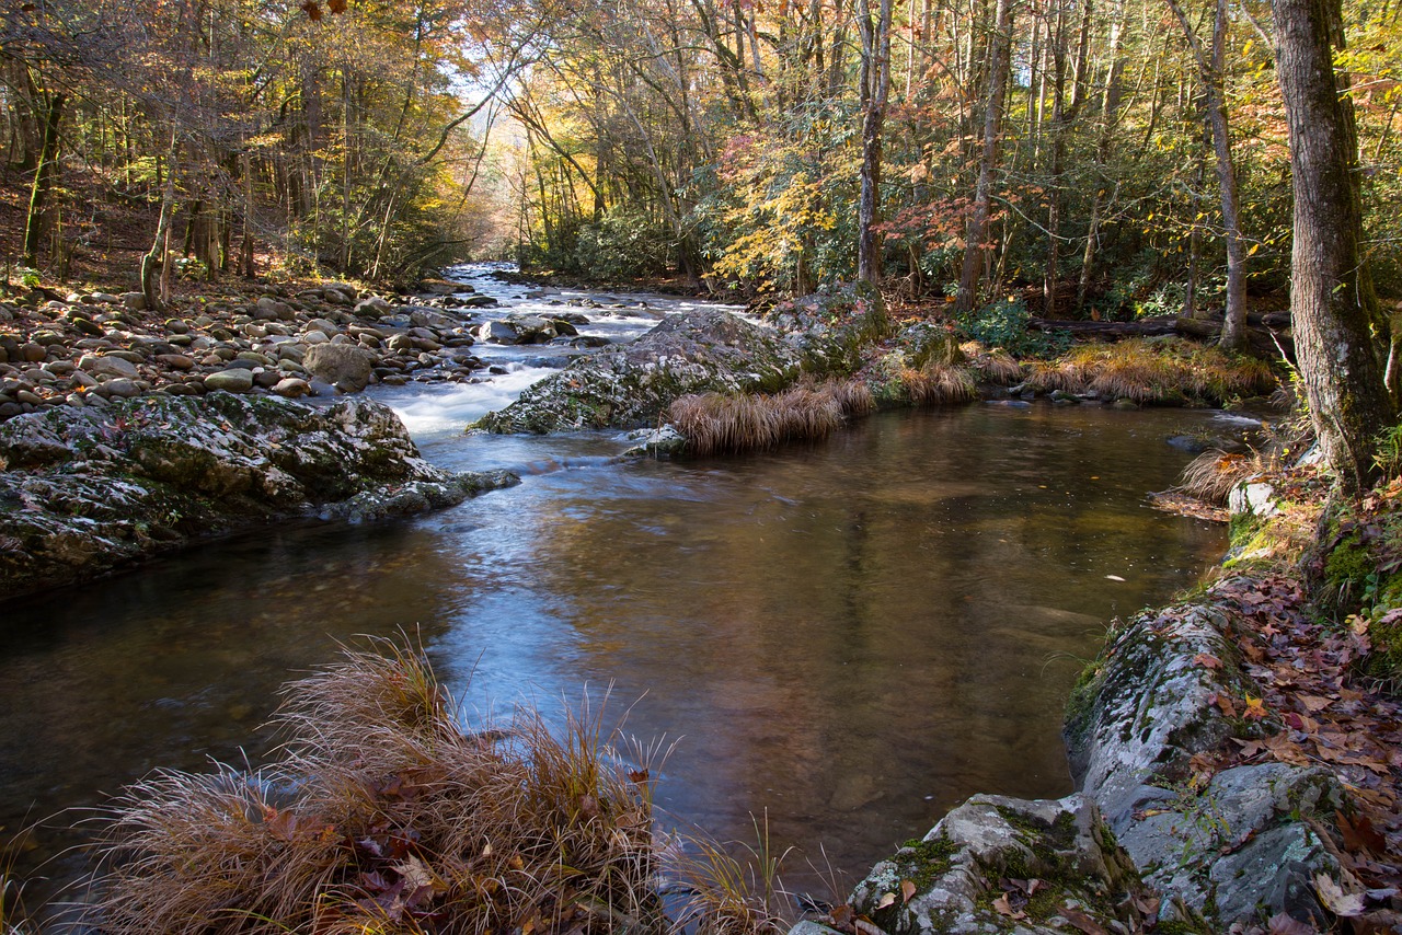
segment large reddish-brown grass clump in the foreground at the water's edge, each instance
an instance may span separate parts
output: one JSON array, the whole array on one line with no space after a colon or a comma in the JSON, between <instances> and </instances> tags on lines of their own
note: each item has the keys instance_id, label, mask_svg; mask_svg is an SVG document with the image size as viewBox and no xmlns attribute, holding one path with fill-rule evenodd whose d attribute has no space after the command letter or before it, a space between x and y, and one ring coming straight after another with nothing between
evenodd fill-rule
<instances>
[{"instance_id":1,"label":"large reddish-brown grass clump in the foreground at the water's edge","mask_svg":"<svg viewBox=\"0 0 1402 935\"><path fill-rule=\"evenodd\" d=\"M157 772L108 823L104 932L662 927L646 768L587 708L465 732L428 663L374 641L293 683L264 772Z\"/></svg>"}]
</instances>

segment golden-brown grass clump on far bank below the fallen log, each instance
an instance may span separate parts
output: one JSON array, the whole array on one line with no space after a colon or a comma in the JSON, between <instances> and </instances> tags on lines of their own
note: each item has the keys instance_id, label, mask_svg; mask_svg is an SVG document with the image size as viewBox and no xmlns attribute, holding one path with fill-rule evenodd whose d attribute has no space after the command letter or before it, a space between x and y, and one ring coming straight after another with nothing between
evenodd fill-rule
<instances>
[{"instance_id":1,"label":"golden-brown grass clump on far bank below the fallen log","mask_svg":"<svg viewBox=\"0 0 1402 935\"><path fill-rule=\"evenodd\" d=\"M1120 341L1082 345L1035 364L1028 384L1044 393L1096 393L1134 402L1197 400L1224 404L1276 388L1270 366L1186 341Z\"/></svg>"}]
</instances>

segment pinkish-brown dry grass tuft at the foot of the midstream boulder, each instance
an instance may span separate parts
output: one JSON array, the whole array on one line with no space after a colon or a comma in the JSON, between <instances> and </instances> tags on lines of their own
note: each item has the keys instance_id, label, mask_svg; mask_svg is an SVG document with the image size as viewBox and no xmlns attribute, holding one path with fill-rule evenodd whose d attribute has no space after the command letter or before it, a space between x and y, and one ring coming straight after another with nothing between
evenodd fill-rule
<instances>
[{"instance_id":1,"label":"pinkish-brown dry grass tuft at the foot of the midstream boulder","mask_svg":"<svg viewBox=\"0 0 1402 935\"><path fill-rule=\"evenodd\" d=\"M847 415L865 415L873 408L864 383L844 380L801 383L773 395L686 395L672 404L667 418L687 437L691 451L704 456L826 439Z\"/></svg>"}]
</instances>

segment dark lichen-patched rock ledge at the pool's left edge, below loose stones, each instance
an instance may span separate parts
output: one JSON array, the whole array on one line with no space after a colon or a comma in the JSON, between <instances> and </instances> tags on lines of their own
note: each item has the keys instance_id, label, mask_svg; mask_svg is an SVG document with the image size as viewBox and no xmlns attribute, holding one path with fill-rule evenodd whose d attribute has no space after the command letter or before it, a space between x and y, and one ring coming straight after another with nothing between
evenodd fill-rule
<instances>
[{"instance_id":1,"label":"dark lichen-patched rock ledge at the pool's left edge, below loose stones","mask_svg":"<svg viewBox=\"0 0 1402 935\"><path fill-rule=\"evenodd\" d=\"M315 409L227 393L11 419L0 468L0 596L278 519L379 519L516 482L433 467L369 400Z\"/></svg>"}]
</instances>

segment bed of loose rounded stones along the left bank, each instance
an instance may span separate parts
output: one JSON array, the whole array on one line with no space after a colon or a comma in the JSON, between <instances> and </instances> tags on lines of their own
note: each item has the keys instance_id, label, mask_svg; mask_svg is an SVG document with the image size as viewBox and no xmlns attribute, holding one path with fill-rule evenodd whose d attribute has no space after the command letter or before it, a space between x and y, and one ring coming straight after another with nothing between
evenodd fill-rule
<instances>
[{"instance_id":1,"label":"bed of loose rounded stones along the left bank","mask_svg":"<svg viewBox=\"0 0 1402 935\"><path fill-rule=\"evenodd\" d=\"M372 380L393 385L465 380L481 366L444 350L471 346L475 328L453 296L430 290L390 301L343 283L290 296L266 286L262 296L175 300L160 315L146 311L139 292L73 293L42 307L0 303L0 421L146 393L329 394L303 366L308 348L328 342L366 348Z\"/></svg>"}]
</instances>

